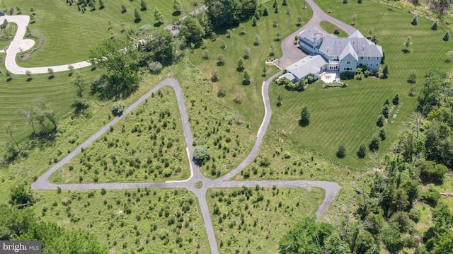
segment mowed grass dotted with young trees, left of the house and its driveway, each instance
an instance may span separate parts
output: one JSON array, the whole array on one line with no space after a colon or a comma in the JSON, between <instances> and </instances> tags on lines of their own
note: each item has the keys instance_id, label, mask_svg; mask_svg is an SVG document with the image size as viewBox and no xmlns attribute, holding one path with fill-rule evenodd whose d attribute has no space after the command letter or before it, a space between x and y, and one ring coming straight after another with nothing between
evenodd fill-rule
<instances>
[{"instance_id":1,"label":"mowed grass dotted with young trees, left of the house and its driveway","mask_svg":"<svg viewBox=\"0 0 453 254\"><path fill-rule=\"evenodd\" d=\"M241 112L244 120L250 122L253 129L258 131L264 116L263 98L261 97L261 85L263 81L278 69L274 66L266 66L266 59L271 58L270 47L275 47L275 57L281 55L280 42L276 41L277 33L280 33L280 39L283 40L294 30L300 28L297 26L297 18L302 17L304 22L309 21L312 12L309 6L303 9L297 0L288 0L287 6L279 4L279 13L275 13L273 1L263 4L262 9L268 8L269 16L262 16L256 26L251 21L242 23L239 26L228 26L217 29L217 40L208 40L207 49L210 52L210 59L203 59L205 49L197 49L190 53L190 61L197 66L207 78L210 79L212 71L219 71L219 81L214 82L214 94L217 94L219 88L224 88L225 96L217 98L220 103L224 103L234 110ZM287 14L287 11L290 14ZM274 27L274 22L277 27ZM245 35L241 35L242 26L246 30ZM228 37L227 29L231 29L232 37ZM259 37L259 45L254 45L256 35ZM222 48L223 43L226 49ZM245 55L245 48L250 49L250 57L243 59L244 67L250 71L252 81L249 85L243 85L243 72L236 70L239 58ZM217 56L223 54L225 63L222 66L217 65ZM263 68L267 69L267 76L263 76ZM241 98L241 103L235 103L236 98Z\"/></svg>"}]
</instances>

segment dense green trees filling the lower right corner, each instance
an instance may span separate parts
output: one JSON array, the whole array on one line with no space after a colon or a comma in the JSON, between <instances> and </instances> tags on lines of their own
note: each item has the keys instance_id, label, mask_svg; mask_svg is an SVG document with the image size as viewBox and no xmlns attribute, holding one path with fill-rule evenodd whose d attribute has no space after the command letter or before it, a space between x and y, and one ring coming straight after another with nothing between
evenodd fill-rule
<instances>
[{"instance_id":1,"label":"dense green trees filling the lower right corner","mask_svg":"<svg viewBox=\"0 0 453 254\"><path fill-rule=\"evenodd\" d=\"M340 204L328 222L306 218L280 240L280 253L449 253L453 211L434 185L453 167L453 83L428 71L418 110L406 122L391 152L370 156L369 173L353 183L355 205ZM419 205L432 211L427 231L415 226Z\"/></svg>"}]
</instances>

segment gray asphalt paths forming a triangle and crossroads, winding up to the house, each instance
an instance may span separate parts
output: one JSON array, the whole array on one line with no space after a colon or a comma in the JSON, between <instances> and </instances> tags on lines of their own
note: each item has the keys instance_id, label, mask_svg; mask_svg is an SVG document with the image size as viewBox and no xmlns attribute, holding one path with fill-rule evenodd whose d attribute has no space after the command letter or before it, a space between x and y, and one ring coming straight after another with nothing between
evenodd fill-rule
<instances>
[{"instance_id":1,"label":"gray asphalt paths forming a triangle and crossroads, winding up to the house","mask_svg":"<svg viewBox=\"0 0 453 254\"><path fill-rule=\"evenodd\" d=\"M298 35L301 30L304 30L308 27L314 26L316 28L319 28L319 23L321 21L329 21L331 23L336 24L339 28L343 29L346 31L346 33L353 33L355 31L355 28L352 28L350 25L347 25L341 21L336 20L335 18L332 18L331 16L328 16L326 13L321 11L321 8L316 6L314 4L313 0L306 0L306 2L311 6L313 9L313 18L304 25L304 27L300 28L296 32L292 33L289 35L285 40L282 42L282 50L283 50L283 56L280 58L280 67L287 67L289 64L292 64L293 62L296 62L299 60L301 57L304 57L304 54L297 49L297 47L294 47L294 36ZM1 22L1 20L0 20ZM27 22L28 23L28 22ZM321 29L322 30L322 29ZM17 37L17 35L16 35ZM16 37L14 40L16 40ZM22 36L23 38L23 36ZM14 57L16 54L14 54ZM6 62L14 62L11 61L11 58L7 57ZM64 66L67 68L67 66ZM20 68L20 67L19 67ZM42 68L47 68L47 67L42 67ZM54 67L52 67L54 68ZM65 69L66 70L66 69ZM13 72L13 71L11 71ZM47 72L47 69L45 70ZM25 73L25 71L24 71ZM36 73L36 72L33 72ZM212 227L212 221L210 217L210 212L209 212L209 207L207 205L207 200L206 200L206 191L209 188L212 187L241 187L241 186L247 186L247 187L253 187L256 185L260 185L263 187L271 187L273 185L279 186L279 187L321 187L324 190L326 190L326 196L319 207L319 209L316 211L316 216L319 218L323 214L323 212L328 209L329 205L331 202L335 199L336 195L338 194L338 191L340 190L340 185L337 183L333 182L323 182L323 181L308 181L308 180L266 180L266 181L231 181L229 178L233 177L237 173L239 173L243 168L245 168L253 158L258 154L260 145L263 141L263 137L265 135L266 130L268 129L268 125L270 122L270 118L272 116L272 108L270 105L270 100L268 96L268 88L270 85L270 82L272 81L274 76L279 75L280 73L277 73L273 76L271 76L268 80L263 82L262 86L262 96L263 96L263 103L265 107L265 116L263 118L263 122L260 126L260 129L258 130L257 134L257 139L256 143L253 146L253 149L251 150L250 154L246 157L246 159L233 171L230 173L227 173L224 175L222 178L218 178L217 180L210 180L208 178L205 178L205 176L200 173L200 169L195 165L194 161L192 160L193 158L193 135L192 132L190 131L190 126L188 122L188 116L187 112L185 110L185 105L184 105L184 100L183 100L183 94L181 93L180 86L178 84L178 81L176 79L166 79L162 83L159 83L158 86L152 88L147 94L142 96L142 98L139 98L137 102L132 104L129 108L127 108L124 112L123 115L116 117L114 120L109 122L107 125L105 125L101 130L96 132L92 137L90 137L86 142L81 144L79 147L77 147L74 151L72 151L70 154L68 154L67 157L63 158L62 161L59 161L59 163L55 164L55 166L52 166L49 171L47 171L44 175L41 175L38 180L36 180L35 183L33 183L32 187L35 190L55 190L57 187L61 187L64 190L89 190L89 189L130 189L130 188L143 188L143 187L181 187L181 188L186 188L190 191L192 191L195 196L198 199L198 202L200 204L200 210L202 212L203 216L203 221L205 223L205 228L207 231L207 237L210 243L210 249L211 253L217 254L219 253L219 250L217 248L217 242L216 238L214 236L214 229ZM81 151L82 147L86 147L92 142L94 142L98 137L100 137L104 132L106 132L110 126L115 125L118 121L122 119L125 115L130 113L134 108L136 108L140 103L142 103L146 98L151 96L152 93L156 92L159 90L159 88L163 86L171 86L176 93L176 99L178 101L178 108L180 112L180 117L181 121L183 122L183 132L184 132L184 137L185 137L185 143L188 146L188 157L190 161L190 166L191 166L191 177L188 180L185 181L173 181L173 182L167 182L167 183L92 183L92 184L62 184L62 185L55 185L47 182L47 179L50 177L52 173L57 171L61 166L63 166L65 163L67 163L71 158L74 158L76 154L79 154ZM196 188L195 187L195 182L197 181L202 181L203 186L201 188Z\"/></svg>"}]
</instances>

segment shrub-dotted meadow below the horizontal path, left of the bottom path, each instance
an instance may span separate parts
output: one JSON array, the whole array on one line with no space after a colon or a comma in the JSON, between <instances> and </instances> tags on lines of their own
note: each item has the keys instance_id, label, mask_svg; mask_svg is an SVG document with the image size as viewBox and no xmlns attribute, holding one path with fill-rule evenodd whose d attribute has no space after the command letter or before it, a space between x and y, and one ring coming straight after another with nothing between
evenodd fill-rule
<instances>
[{"instance_id":1,"label":"shrub-dotted meadow below the horizontal path, left of the bottom path","mask_svg":"<svg viewBox=\"0 0 453 254\"><path fill-rule=\"evenodd\" d=\"M89 231L110 253L210 251L197 199L188 190L52 190L36 197L33 209L43 221Z\"/></svg>"}]
</instances>

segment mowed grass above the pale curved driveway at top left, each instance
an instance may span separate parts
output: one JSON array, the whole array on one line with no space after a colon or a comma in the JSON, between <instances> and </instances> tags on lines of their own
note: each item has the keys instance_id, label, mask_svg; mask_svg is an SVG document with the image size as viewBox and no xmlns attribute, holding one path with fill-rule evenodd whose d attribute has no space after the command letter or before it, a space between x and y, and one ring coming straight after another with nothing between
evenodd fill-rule
<instances>
[{"instance_id":1,"label":"mowed grass above the pale curved driveway at top left","mask_svg":"<svg viewBox=\"0 0 453 254\"><path fill-rule=\"evenodd\" d=\"M76 1L74 1L76 2ZM30 30L37 30L44 37L44 45L34 52L30 59L20 62L21 67L41 67L59 64L69 64L88 59L89 50L96 47L101 40L113 35L120 35L122 25L127 33L131 28L138 29L142 25L151 25L154 29L163 29L173 19L172 1L147 0L147 11L140 11L140 1L104 1L105 8L99 9L96 1L96 11L90 11L87 6L85 13L78 11L77 5L69 6L66 1L28 1L6 0L4 4L10 7L20 6L23 15L31 15L30 7L34 8L35 23L29 25ZM180 1L193 11L189 0ZM127 6L127 11L122 13L121 5ZM164 16L164 25L154 27L154 8L158 8ZM134 23L134 10L137 8L142 21ZM113 29L109 29L110 25Z\"/></svg>"}]
</instances>

